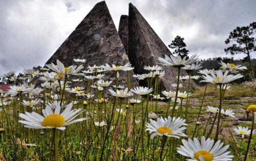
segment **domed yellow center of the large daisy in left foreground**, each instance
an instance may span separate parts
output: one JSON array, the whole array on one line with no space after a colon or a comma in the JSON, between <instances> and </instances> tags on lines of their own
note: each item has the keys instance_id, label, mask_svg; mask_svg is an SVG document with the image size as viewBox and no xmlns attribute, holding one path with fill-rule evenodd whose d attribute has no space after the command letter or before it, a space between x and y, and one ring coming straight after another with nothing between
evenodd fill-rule
<instances>
[{"instance_id":1,"label":"domed yellow center of the large daisy in left foreground","mask_svg":"<svg viewBox=\"0 0 256 161\"><path fill-rule=\"evenodd\" d=\"M42 126L61 127L65 122L65 119L59 114L49 114L49 116L42 121Z\"/></svg>"}]
</instances>

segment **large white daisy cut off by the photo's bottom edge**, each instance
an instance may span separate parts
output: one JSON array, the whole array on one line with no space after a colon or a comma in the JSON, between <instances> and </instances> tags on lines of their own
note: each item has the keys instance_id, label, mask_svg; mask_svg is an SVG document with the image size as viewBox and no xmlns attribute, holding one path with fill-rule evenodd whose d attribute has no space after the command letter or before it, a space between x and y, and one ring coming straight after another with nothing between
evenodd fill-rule
<instances>
[{"instance_id":1,"label":"large white daisy cut off by the photo's bottom edge","mask_svg":"<svg viewBox=\"0 0 256 161\"><path fill-rule=\"evenodd\" d=\"M225 152L229 145L226 145L222 148L224 143L221 141L217 141L214 143L214 140L208 138L205 140L205 137L202 136L201 143L198 141L196 137L194 137L194 141L191 139L182 140L183 146L178 147L178 153L183 156L190 157L187 159L189 161L227 161L232 160L232 155L228 155L230 151Z\"/></svg>"}]
</instances>

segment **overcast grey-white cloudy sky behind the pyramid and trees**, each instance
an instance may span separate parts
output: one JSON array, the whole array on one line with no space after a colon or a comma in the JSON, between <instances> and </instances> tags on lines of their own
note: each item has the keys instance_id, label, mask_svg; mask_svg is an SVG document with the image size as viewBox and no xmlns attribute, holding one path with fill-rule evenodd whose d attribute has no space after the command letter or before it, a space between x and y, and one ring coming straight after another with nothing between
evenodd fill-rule
<instances>
[{"instance_id":1,"label":"overcast grey-white cloudy sky behind the pyramid and trees","mask_svg":"<svg viewBox=\"0 0 256 161\"><path fill-rule=\"evenodd\" d=\"M0 75L44 66L98 2L0 0ZM231 57L224 52L229 33L256 21L255 0L106 0L116 28L120 16L128 15L130 2L166 45L179 35L189 55L198 54L202 59Z\"/></svg>"}]
</instances>

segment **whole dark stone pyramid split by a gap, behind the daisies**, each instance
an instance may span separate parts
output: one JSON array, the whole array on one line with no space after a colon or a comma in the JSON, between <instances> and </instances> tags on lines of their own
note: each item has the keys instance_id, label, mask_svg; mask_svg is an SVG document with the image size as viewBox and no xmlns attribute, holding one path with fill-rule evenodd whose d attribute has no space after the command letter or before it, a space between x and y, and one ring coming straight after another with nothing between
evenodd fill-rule
<instances>
[{"instance_id":1,"label":"whole dark stone pyramid split by a gap, behind the daisies","mask_svg":"<svg viewBox=\"0 0 256 161\"><path fill-rule=\"evenodd\" d=\"M46 64L58 59L65 66L74 65L73 59L87 59L83 66L124 65L131 63L131 86L137 86L133 74L145 74L144 65L157 65L158 57L171 55L162 40L154 32L139 11L130 3L129 16L122 15L117 32L109 9L104 1L97 3L80 22L70 36L61 44ZM160 65L160 64L158 64ZM159 81L160 90L175 90L177 69L162 66L165 76ZM83 70L87 70L84 68ZM127 84L127 72L119 73L119 84ZM185 71L181 72L185 76ZM115 80L115 73L108 72L105 80ZM141 85L141 84L140 84Z\"/></svg>"}]
</instances>

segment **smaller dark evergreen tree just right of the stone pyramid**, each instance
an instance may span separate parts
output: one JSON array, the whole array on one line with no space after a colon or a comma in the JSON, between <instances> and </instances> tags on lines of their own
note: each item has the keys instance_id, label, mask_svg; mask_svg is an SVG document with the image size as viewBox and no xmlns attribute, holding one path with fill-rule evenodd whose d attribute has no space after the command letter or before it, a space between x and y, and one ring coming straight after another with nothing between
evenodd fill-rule
<instances>
[{"instance_id":1,"label":"smaller dark evergreen tree just right of the stone pyramid","mask_svg":"<svg viewBox=\"0 0 256 161\"><path fill-rule=\"evenodd\" d=\"M183 41L184 38L181 38L180 36L176 36L175 39L168 45L169 48L175 49L173 54L176 54L176 56L181 56L181 58L184 58L188 54L188 50L186 50L186 43ZM188 57L187 57L188 58Z\"/></svg>"}]
</instances>

